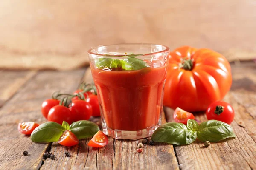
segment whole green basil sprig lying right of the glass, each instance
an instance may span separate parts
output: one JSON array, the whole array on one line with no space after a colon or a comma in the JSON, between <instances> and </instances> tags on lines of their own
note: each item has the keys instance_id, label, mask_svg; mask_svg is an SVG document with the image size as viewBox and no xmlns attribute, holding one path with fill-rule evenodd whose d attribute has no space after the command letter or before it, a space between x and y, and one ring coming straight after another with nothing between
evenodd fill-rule
<instances>
[{"instance_id":1,"label":"whole green basil sprig lying right of the glass","mask_svg":"<svg viewBox=\"0 0 256 170\"><path fill-rule=\"evenodd\" d=\"M187 125L182 123L166 123L157 128L152 135L154 142L170 144L190 144L198 138L200 141L217 142L226 138L236 137L232 127L227 123L208 120L200 125L195 120L189 119Z\"/></svg>"}]
</instances>

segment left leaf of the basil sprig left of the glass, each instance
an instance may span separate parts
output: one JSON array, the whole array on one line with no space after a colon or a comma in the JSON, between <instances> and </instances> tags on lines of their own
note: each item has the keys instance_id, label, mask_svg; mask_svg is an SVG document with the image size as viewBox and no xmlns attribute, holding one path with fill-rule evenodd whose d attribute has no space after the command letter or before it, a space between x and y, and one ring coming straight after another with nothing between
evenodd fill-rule
<instances>
[{"instance_id":1,"label":"left leaf of the basil sprig left of the glass","mask_svg":"<svg viewBox=\"0 0 256 170\"><path fill-rule=\"evenodd\" d=\"M36 127L30 138L33 142L56 142L65 130L56 122L46 122Z\"/></svg>"}]
</instances>

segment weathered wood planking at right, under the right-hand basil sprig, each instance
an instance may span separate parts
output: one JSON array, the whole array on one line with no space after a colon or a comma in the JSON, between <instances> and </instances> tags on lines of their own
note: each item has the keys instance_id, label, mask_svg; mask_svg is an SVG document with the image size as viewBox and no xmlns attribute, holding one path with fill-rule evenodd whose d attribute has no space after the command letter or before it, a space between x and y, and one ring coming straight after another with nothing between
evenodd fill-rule
<instances>
[{"instance_id":1,"label":"weathered wood planking at right, under the right-hand basil sprig","mask_svg":"<svg viewBox=\"0 0 256 170\"><path fill-rule=\"evenodd\" d=\"M215 142L208 148L198 140L175 146L180 169L256 169L256 70L252 69L255 67L251 63L232 65L233 85L224 100L235 110L231 126L236 139ZM166 108L166 113L167 121L173 122L173 110ZM204 113L196 113L195 117L200 122L207 120Z\"/></svg>"}]
</instances>

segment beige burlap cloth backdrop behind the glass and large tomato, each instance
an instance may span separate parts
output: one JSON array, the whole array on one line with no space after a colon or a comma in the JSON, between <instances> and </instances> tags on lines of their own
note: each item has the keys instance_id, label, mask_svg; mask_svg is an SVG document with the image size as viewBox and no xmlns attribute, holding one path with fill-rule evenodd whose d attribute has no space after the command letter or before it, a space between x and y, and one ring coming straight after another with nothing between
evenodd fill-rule
<instances>
[{"instance_id":1,"label":"beige burlap cloth backdrop behind the glass and large tomato","mask_svg":"<svg viewBox=\"0 0 256 170\"><path fill-rule=\"evenodd\" d=\"M91 47L125 42L256 57L255 0L1 0L0 21L0 68L78 68Z\"/></svg>"}]
</instances>

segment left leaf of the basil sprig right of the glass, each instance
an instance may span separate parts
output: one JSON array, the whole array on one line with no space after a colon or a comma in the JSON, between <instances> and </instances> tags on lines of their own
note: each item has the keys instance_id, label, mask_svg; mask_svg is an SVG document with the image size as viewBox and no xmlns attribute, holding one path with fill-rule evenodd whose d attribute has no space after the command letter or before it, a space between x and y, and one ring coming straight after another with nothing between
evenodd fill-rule
<instances>
[{"instance_id":1,"label":"left leaf of the basil sprig right of the glass","mask_svg":"<svg viewBox=\"0 0 256 170\"><path fill-rule=\"evenodd\" d=\"M151 139L154 142L166 142L170 144L190 144L195 141L197 132L188 130L182 123L166 123L157 128Z\"/></svg>"}]
</instances>

